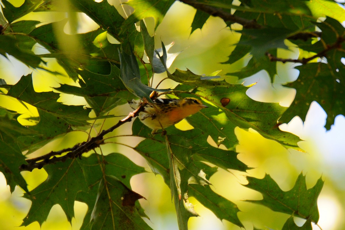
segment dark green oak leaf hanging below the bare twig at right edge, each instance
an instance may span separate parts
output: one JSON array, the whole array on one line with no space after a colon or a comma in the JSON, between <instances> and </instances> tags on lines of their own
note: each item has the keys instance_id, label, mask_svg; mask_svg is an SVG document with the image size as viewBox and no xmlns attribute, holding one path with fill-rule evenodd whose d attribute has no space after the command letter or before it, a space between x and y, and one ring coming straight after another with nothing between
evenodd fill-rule
<instances>
[{"instance_id":1,"label":"dark green oak leaf hanging below the bare twig at right edge","mask_svg":"<svg viewBox=\"0 0 345 230\"><path fill-rule=\"evenodd\" d=\"M296 89L296 97L279 121L287 123L295 116L304 119L309 105L316 101L326 111L326 128L330 129L334 118L338 114L344 114L345 69L342 63L337 67L339 72L321 62L296 67L300 71L298 79L287 84Z\"/></svg>"}]
</instances>

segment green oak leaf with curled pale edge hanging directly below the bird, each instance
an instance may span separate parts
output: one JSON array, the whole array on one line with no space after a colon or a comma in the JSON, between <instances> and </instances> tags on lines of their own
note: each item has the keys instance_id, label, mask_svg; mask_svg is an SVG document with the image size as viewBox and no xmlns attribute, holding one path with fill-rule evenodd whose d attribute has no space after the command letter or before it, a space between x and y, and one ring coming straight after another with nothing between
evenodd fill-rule
<instances>
[{"instance_id":1,"label":"green oak leaf with curled pale edge hanging directly below the bird","mask_svg":"<svg viewBox=\"0 0 345 230\"><path fill-rule=\"evenodd\" d=\"M247 169L245 164L237 159L236 152L211 147L206 142L208 134L199 129L180 131L168 127L165 139L159 135L149 137L150 131L137 119L132 131L133 135L146 137L135 150L147 160L151 170L160 174L170 187L180 229L187 229L188 219L198 216L193 205L187 200L188 184L208 184L207 178L214 173L209 166L200 164L200 161L210 162L224 169ZM205 193L205 196L212 194Z\"/></svg>"}]
</instances>

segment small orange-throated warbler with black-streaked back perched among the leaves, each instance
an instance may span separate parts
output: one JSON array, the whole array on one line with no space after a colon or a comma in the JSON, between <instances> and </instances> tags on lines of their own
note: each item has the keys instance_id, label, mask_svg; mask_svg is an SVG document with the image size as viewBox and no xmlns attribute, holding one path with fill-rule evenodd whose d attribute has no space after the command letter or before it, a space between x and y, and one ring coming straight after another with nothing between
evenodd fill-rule
<instances>
[{"instance_id":1,"label":"small orange-throated warbler with black-streaked back perched among the leaves","mask_svg":"<svg viewBox=\"0 0 345 230\"><path fill-rule=\"evenodd\" d=\"M136 109L135 101L131 101L129 104ZM157 130L172 126L207 107L197 98L157 98L153 100L152 104L147 104L144 111L139 113L139 120L152 129L152 134L155 134Z\"/></svg>"}]
</instances>

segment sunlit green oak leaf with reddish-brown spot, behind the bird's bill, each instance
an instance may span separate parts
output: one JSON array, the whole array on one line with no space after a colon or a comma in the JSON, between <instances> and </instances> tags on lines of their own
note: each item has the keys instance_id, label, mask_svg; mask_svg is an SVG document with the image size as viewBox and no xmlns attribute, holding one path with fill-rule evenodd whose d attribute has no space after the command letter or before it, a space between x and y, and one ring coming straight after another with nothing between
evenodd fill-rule
<instances>
[{"instance_id":1,"label":"sunlit green oak leaf with reddish-brown spot, behind the bird's bill","mask_svg":"<svg viewBox=\"0 0 345 230\"><path fill-rule=\"evenodd\" d=\"M277 126L277 120L286 110L278 103L263 103L250 99L246 95L248 88L241 84L215 88L197 87L194 90L178 86L174 90L186 89L213 104L187 120L194 128L208 133L215 142L220 141L228 149L237 143L234 133L237 126L243 129L252 128L285 148L299 149L297 142L300 139L292 133L281 131ZM224 104L224 101L227 103Z\"/></svg>"}]
</instances>

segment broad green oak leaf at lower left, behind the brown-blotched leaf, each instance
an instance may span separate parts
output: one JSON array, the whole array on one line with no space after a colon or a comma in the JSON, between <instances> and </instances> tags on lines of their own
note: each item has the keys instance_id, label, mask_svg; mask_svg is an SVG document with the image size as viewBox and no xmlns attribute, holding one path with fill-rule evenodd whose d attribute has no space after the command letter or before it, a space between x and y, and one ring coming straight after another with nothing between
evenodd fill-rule
<instances>
[{"instance_id":1,"label":"broad green oak leaf at lower left, behind the brown-blotched leaf","mask_svg":"<svg viewBox=\"0 0 345 230\"><path fill-rule=\"evenodd\" d=\"M32 205L23 225L27 226L33 221L42 224L55 204L62 207L69 221L74 216L75 200L86 202L89 210L92 210L97 197L97 186L95 185L103 180L105 176L103 172L119 178L118 183L127 190L129 190L127 187L130 188L130 178L135 174L145 172L144 168L135 165L119 153L104 156L103 160L99 158L101 156L92 154L82 160L69 159L66 162L46 165L44 167L48 173L46 181L33 189L30 195L25 195L25 197L31 198ZM105 167L104 171L99 164L101 167ZM79 193L85 197L80 196ZM86 217L83 224L87 225L89 222L90 219Z\"/></svg>"}]
</instances>

